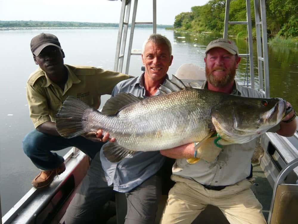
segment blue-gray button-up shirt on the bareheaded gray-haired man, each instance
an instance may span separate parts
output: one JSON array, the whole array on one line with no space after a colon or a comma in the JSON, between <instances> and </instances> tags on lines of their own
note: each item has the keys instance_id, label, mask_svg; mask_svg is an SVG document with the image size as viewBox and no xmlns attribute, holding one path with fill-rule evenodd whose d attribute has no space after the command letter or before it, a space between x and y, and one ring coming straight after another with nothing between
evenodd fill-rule
<instances>
[{"instance_id":1,"label":"blue-gray button-up shirt on the bareheaded gray-haired man","mask_svg":"<svg viewBox=\"0 0 298 224\"><path fill-rule=\"evenodd\" d=\"M119 82L115 86L112 96L118 93L131 93L145 98L143 76L144 73L139 77ZM155 95L158 94L159 90L156 91ZM165 157L159 151L139 151L134 155L126 156L120 162L112 163L104 156L103 150L101 150L100 160L108 185L114 184L113 189L115 191L129 192L154 175L162 167Z\"/></svg>"}]
</instances>

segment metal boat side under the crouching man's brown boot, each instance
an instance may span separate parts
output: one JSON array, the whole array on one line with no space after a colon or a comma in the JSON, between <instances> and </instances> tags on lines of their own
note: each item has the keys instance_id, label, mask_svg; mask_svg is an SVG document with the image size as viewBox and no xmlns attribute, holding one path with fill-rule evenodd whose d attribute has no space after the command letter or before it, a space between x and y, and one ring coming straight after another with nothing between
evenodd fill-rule
<instances>
[{"instance_id":1,"label":"metal boat side under the crouching man's brown boot","mask_svg":"<svg viewBox=\"0 0 298 224\"><path fill-rule=\"evenodd\" d=\"M2 218L3 224L44 223L63 217L72 195L89 168L89 157L77 148L65 156L66 170L49 187L32 187Z\"/></svg>"}]
</instances>

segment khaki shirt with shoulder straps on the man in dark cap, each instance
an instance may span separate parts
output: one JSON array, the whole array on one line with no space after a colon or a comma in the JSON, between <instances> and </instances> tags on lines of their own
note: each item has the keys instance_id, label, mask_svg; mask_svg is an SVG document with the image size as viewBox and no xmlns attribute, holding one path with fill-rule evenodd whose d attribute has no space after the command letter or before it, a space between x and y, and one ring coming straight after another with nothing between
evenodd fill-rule
<instances>
[{"instance_id":1,"label":"khaki shirt with shoulder straps on the man in dark cap","mask_svg":"<svg viewBox=\"0 0 298 224\"><path fill-rule=\"evenodd\" d=\"M129 78L122 73L90 66L65 65L65 67L68 71L68 79L64 90L52 82L41 68L29 76L27 100L30 118L35 128L46 121L55 122L56 114L67 96L75 96L98 109L100 96L111 94L118 82Z\"/></svg>"}]
</instances>

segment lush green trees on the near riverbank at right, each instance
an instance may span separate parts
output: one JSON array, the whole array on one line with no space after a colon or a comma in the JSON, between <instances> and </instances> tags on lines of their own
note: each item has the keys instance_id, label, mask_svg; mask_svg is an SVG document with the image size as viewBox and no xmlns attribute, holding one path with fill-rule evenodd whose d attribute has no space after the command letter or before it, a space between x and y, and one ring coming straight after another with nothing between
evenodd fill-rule
<instances>
[{"instance_id":1,"label":"lush green trees on the near riverbank at right","mask_svg":"<svg viewBox=\"0 0 298 224\"><path fill-rule=\"evenodd\" d=\"M255 36L254 1L251 4L253 35ZM174 29L194 32L224 31L225 0L210 0L203 6L193 6L190 12L176 15ZM298 36L298 1L267 0L266 1L267 34L269 37L285 38ZM229 21L246 21L246 1L230 2ZM246 37L246 25L229 25L229 35Z\"/></svg>"}]
</instances>

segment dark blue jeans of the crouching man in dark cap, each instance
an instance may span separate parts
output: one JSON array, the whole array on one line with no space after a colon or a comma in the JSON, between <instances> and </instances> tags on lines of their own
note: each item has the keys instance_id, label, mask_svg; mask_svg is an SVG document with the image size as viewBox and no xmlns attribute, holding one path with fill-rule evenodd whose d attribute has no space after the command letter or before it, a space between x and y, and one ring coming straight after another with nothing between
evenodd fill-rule
<instances>
[{"instance_id":1,"label":"dark blue jeans of the crouching man in dark cap","mask_svg":"<svg viewBox=\"0 0 298 224\"><path fill-rule=\"evenodd\" d=\"M41 170L53 170L64 162L62 156L51 151L59 151L72 146L79 148L93 159L103 146L103 142L93 142L81 136L67 139L44 134L37 130L29 132L23 140L25 154Z\"/></svg>"}]
</instances>

